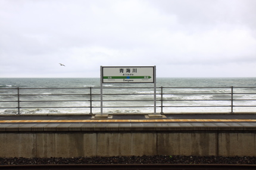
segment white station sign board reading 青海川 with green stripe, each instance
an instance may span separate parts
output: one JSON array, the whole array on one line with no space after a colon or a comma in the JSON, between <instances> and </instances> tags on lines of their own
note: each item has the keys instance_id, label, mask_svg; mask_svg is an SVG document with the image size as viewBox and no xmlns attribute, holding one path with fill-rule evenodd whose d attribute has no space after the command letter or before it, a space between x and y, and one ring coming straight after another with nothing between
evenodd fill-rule
<instances>
[{"instance_id":1,"label":"white station sign board reading \u9752\u6d77\u5ddd with green stripe","mask_svg":"<svg viewBox=\"0 0 256 170\"><path fill-rule=\"evenodd\" d=\"M102 66L102 83L154 83L154 66L141 67L104 67Z\"/></svg>"}]
</instances>

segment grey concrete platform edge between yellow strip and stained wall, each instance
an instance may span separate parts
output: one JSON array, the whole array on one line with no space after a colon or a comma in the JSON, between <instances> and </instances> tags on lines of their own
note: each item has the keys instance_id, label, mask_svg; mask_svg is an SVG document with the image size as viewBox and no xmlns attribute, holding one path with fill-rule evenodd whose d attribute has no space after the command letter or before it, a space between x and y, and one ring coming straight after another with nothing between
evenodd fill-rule
<instances>
[{"instance_id":1,"label":"grey concrete platform edge between yellow strip and stained wall","mask_svg":"<svg viewBox=\"0 0 256 170\"><path fill-rule=\"evenodd\" d=\"M95 132L95 131L256 131L256 123L250 123L251 126L243 126L243 123L240 123L240 126L237 125L228 125L223 123L214 123L213 125L205 125L204 123L196 123L196 126L189 126L188 124L182 123L90 123L90 124L1 124L0 133L21 133L21 132L46 132L51 131L54 133L61 132Z\"/></svg>"}]
</instances>

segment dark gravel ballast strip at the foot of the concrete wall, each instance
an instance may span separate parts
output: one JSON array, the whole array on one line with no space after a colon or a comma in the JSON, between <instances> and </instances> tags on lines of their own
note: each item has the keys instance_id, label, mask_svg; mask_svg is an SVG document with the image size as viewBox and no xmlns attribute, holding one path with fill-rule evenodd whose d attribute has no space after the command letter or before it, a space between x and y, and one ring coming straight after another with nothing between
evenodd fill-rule
<instances>
[{"instance_id":1,"label":"dark gravel ballast strip at the foot of the concrete wall","mask_svg":"<svg viewBox=\"0 0 256 170\"><path fill-rule=\"evenodd\" d=\"M112 156L79 158L0 158L0 165L39 165L39 164L255 164L252 156Z\"/></svg>"}]
</instances>

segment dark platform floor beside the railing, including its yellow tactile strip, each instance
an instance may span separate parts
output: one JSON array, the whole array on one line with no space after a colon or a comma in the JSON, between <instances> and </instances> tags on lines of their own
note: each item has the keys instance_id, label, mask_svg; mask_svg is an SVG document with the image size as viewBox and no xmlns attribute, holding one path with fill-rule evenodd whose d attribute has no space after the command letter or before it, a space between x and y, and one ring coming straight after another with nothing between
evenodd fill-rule
<instances>
[{"instance_id":1,"label":"dark platform floor beside the railing, including its yellow tactile strip","mask_svg":"<svg viewBox=\"0 0 256 170\"><path fill-rule=\"evenodd\" d=\"M21 114L0 115L0 123L25 122L180 122L180 121L256 121L256 114L163 114L146 118L147 114L109 114L111 118L93 118L95 114ZM100 114L96 114L100 116Z\"/></svg>"}]
</instances>

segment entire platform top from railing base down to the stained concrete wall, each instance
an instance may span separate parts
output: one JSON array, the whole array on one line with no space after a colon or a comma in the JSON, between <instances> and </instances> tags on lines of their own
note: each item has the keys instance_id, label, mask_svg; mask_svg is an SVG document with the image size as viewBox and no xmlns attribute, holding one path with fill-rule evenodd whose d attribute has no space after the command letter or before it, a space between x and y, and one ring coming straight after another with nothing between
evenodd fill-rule
<instances>
[{"instance_id":1,"label":"entire platform top from railing base down to the stained concrete wall","mask_svg":"<svg viewBox=\"0 0 256 170\"><path fill-rule=\"evenodd\" d=\"M256 114L165 114L145 115L13 115L0 116L0 132L25 131L256 131Z\"/></svg>"}]
</instances>

